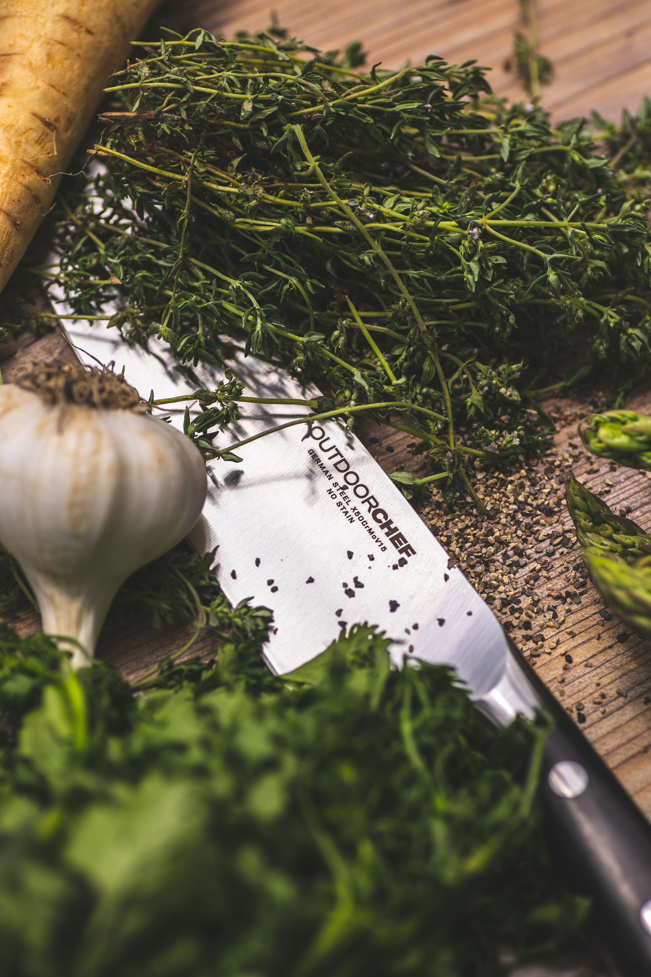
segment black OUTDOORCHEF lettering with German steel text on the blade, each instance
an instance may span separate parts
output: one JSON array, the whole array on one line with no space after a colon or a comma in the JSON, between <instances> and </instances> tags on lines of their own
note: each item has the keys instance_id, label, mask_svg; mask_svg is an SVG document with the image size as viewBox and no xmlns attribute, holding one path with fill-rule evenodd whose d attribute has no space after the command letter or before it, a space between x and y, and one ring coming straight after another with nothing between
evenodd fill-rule
<instances>
[{"instance_id":1,"label":"black OUTDOORCHEF lettering with German steel text on the blade","mask_svg":"<svg viewBox=\"0 0 651 977\"><path fill-rule=\"evenodd\" d=\"M374 542L380 546L383 553L387 552L386 540L388 540L398 551L400 557L394 569L397 569L398 566L406 566L408 558L416 556L416 550L399 527L393 523L387 510L371 493L370 488L361 482L357 472L350 467L350 463L342 451L333 443L330 436L325 434L323 428L313 427L310 436L314 441L318 441L320 452L327 458L334 471L344 478L344 483L332 482L333 476L327 471L317 451L312 447L308 448L307 453L311 455L324 475L332 482L332 486L328 488L328 494L337 501L337 505L344 512L347 521L354 524L357 520ZM364 511L365 508L368 512ZM382 532L384 532L384 537L381 535Z\"/></svg>"}]
</instances>

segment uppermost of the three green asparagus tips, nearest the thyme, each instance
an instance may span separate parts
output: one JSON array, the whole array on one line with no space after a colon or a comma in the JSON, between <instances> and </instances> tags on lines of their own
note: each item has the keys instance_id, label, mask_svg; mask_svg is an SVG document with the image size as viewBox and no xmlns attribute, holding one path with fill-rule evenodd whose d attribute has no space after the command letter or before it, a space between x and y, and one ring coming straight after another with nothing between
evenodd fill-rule
<instances>
[{"instance_id":1,"label":"uppermost of the three green asparagus tips, nearest the thyme","mask_svg":"<svg viewBox=\"0 0 651 977\"><path fill-rule=\"evenodd\" d=\"M628 468L651 470L651 417L634 410L609 410L592 414L579 433L592 454Z\"/></svg>"}]
</instances>

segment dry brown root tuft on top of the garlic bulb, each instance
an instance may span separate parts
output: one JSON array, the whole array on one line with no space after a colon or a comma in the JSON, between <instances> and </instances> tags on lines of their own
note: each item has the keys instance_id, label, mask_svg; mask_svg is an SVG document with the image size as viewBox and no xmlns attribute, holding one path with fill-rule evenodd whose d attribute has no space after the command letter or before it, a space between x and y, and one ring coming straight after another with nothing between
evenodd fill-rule
<instances>
[{"instance_id":1,"label":"dry brown root tuft on top of the garlic bulb","mask_svg":"<svg viewBox=\"0 0 651 977\"><path fill-rule=\"evenodd\" d=\"M38 394L46 404L76 404L98 410L136 410L139 413L150 410L123 376L105 366L87 369L81 363L33 362L16 385Z\"/></svg>"}]
</instances>

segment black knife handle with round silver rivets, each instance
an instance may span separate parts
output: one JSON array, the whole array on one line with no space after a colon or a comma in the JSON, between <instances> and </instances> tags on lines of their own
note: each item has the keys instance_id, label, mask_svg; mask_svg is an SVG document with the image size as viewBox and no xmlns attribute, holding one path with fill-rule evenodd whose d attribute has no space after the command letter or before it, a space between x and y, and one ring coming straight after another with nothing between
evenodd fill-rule
<instances>
[{"instance_id":1,"label":"black knife handle with round silver rivets","mask_svg":"<svg viewBox=\"0 0 651 977\"><path fill-rule=\"evenodd\" d=\"M554 722L543 761L549 846L626 977L651 975L651 825L565 709L516 653Z\"/></svg>"}]
</instances>

